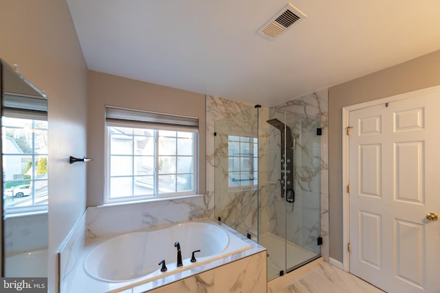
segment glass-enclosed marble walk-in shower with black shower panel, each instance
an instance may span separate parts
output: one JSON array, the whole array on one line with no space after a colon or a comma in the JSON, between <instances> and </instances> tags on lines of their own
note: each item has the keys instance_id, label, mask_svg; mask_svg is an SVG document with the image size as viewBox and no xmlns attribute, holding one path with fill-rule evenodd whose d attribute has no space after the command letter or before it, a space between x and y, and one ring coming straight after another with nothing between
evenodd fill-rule
<instances>
[{"instance_id":1,"label":"glass-enclosed marble walk-in shower with black shower panel","mask_svg":"<svg viewBox=\"0 0 440 293\"><path fill-rule=\"evenodd\" d=\"M214 215L267 248L268 280L320 256L317 128L260 106L214 123Z\"/></svg>"}]
</instances>

